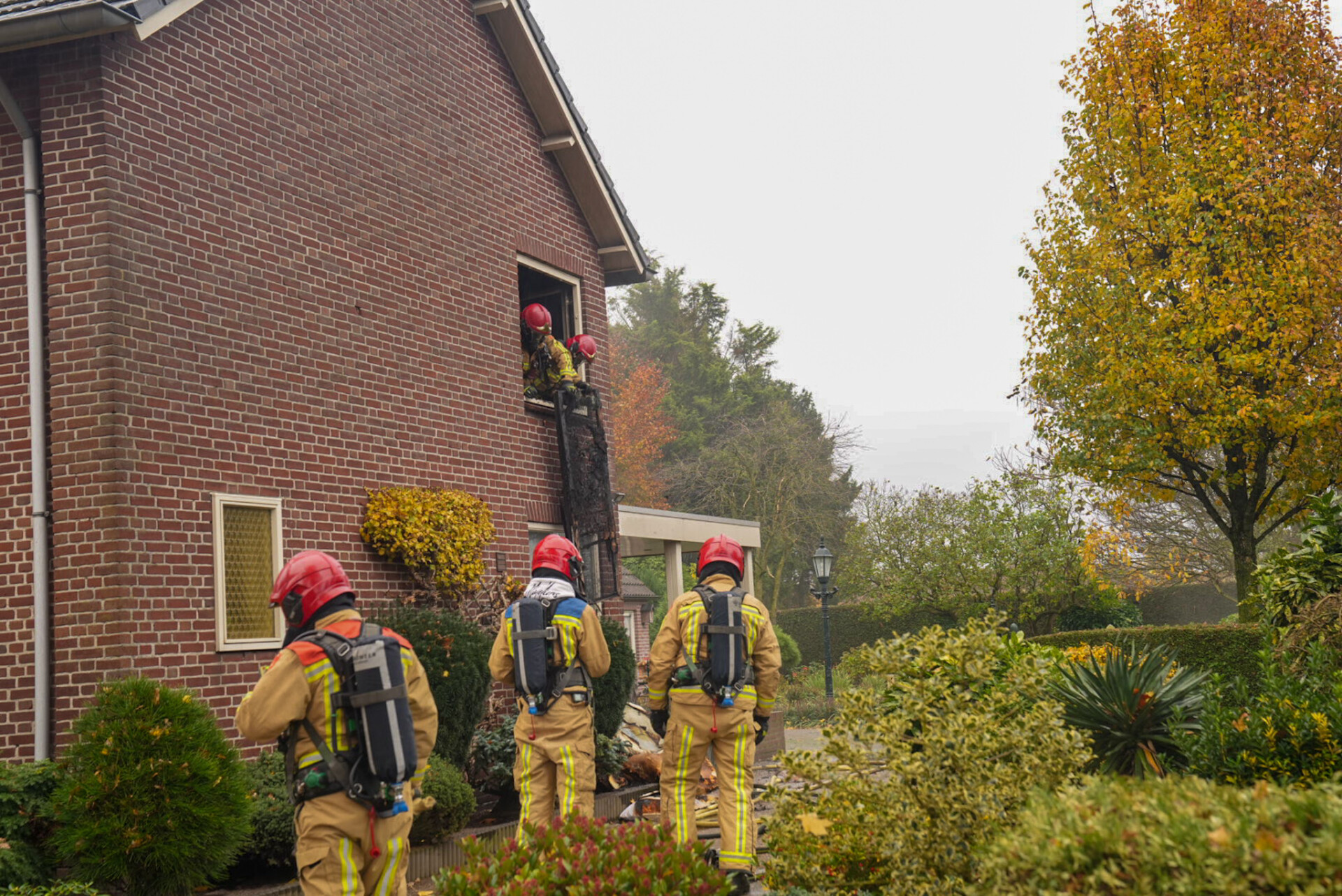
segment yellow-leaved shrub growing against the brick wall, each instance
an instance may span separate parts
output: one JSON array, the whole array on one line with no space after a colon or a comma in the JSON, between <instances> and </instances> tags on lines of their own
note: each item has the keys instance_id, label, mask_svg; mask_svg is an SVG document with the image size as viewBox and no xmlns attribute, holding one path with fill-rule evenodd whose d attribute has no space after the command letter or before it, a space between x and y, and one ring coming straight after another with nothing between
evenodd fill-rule
<instances>
[{"instance_id":1,"label":"yellow-leaved shrub growing against the brick wall","mask_svg":"<svg viewBox=\"0 0 1342 896\"><path fill-rule=\"evenodd\" d=\"M494 541L488 506L451 488L393 486L368 494L368 546L405 565L421 587L460 596L484 574L484 546Z\"/></svg>"}]
</instances>

